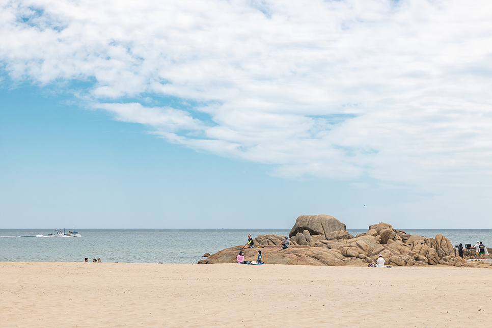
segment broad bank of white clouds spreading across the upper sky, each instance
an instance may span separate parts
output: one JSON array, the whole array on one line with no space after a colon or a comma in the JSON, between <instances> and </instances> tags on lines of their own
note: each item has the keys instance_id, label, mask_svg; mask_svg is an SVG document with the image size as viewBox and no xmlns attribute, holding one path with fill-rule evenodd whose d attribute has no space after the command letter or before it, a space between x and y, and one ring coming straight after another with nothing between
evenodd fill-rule
<instances>
[{"instance_id":1,"label":"broad bank of white clouds spreading across the upper sky","mask_svg":"<svg viewBox=\"0 0 492 328\"><path fill-rule=\"evenodd\" d=\"M367 175L430 193L490 195L490 9L453 1L2 1L0 60L12 80L95 81L81 99L117 120L275 165L280 176ZM188 105L151 104L166 96Z\"/></svg>"}]
</instances>

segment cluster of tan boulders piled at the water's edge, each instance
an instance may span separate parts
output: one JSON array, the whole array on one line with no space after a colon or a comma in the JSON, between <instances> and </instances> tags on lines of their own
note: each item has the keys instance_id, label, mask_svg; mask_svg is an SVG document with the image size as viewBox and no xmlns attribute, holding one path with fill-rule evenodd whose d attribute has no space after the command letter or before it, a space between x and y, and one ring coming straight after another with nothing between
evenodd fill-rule
<instances>
[{"instance_id":1,"label":"cluster of tan boulders piled at the water's edge","mask_svg":"<svg viewBox=\"0 0 492 328\"><path fill-rule=\"evenodd\" d=\"M289 237L291 247L285 250L279 250L285 236L261 235L254 239L257 248L232 247L199 263L235 263L240 250L245 260L255 261L261 249L263 262L271 264L367 266L381 254L387 265L394 266L474 266L457 257L451 241L441 234L435 238L407 234L382 222L369 226L366 233L353 236L333 216L301 215Z\"/></svg>"}]
</instances>

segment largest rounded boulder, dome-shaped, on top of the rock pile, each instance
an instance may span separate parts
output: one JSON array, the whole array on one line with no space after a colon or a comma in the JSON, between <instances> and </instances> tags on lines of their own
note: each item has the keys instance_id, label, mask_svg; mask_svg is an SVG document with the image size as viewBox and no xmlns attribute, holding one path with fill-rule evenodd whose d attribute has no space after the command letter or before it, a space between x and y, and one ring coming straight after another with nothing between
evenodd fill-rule
<instances>
[{"instance_id":1,"label":"largest rounded boulder, dome-shaped, on top of the rock pile","mask_svg":"<svg viewBox=\"0 0 492 328\"><path fill-rule=\"evenodd\" d=\"M289 237L295 236L298 232L303 233L304 230L308 230L311 235L326 236L333 231L346 231L347 227L331 215L300 215L295 220Z\"/></svg>"}]
</instances>

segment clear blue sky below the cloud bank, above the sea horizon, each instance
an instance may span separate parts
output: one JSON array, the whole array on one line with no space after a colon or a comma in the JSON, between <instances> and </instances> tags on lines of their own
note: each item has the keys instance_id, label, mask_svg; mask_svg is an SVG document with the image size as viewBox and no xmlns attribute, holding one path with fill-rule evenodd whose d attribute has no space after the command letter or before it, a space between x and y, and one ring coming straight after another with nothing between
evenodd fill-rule
<instances>
[{"instance_id":1,"label":"clear blue sky below the cloud bank, above the sea horizon","mask_svg":"<svg viewBox=\"0 0 492 328\"><path fill-rule=\"evenodd\" d=\"M0 95L3 228L289 228L298 214L365 216L407 198L271 176L269 166L171 145L38 87Z\"/></svg>"}]
</instances>

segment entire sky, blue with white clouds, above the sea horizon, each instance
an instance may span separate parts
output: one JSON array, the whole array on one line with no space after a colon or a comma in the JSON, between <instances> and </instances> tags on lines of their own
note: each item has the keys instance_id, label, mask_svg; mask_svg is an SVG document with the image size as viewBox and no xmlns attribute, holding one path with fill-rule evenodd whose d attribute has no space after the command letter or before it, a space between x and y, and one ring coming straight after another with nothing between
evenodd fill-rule
<instances>
[{"instance_id":1,"label":"entire sky, blue with white clouds, above the sea horizon","mask_svg":"<svg viewBox=\"0 0 492 328\"><path fill-rule=\"evenodd\" d=\"M0 228L492 228L492 3L0 0Z\"/></svg>"}]
</instances>

